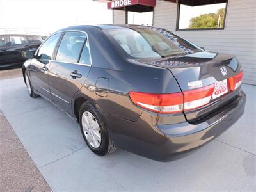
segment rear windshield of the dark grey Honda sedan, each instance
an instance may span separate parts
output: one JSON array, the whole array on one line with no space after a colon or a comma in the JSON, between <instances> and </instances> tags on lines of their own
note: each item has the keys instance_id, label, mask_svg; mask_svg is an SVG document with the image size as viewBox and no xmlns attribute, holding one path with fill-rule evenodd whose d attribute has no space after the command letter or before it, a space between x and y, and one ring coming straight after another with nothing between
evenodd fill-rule
<instances>
[{"instance_id":1,"label":"rear windshield of the dark grey Honda sedan","mask_svg":"<svg viewBox=\"0 0 256 192\"><path fill-rule=\"evenodd\" d=\"M132 58L165 58L203 51L195 44L158 28L107 29L104 33Z\"/></svg>"}]
</instances>

